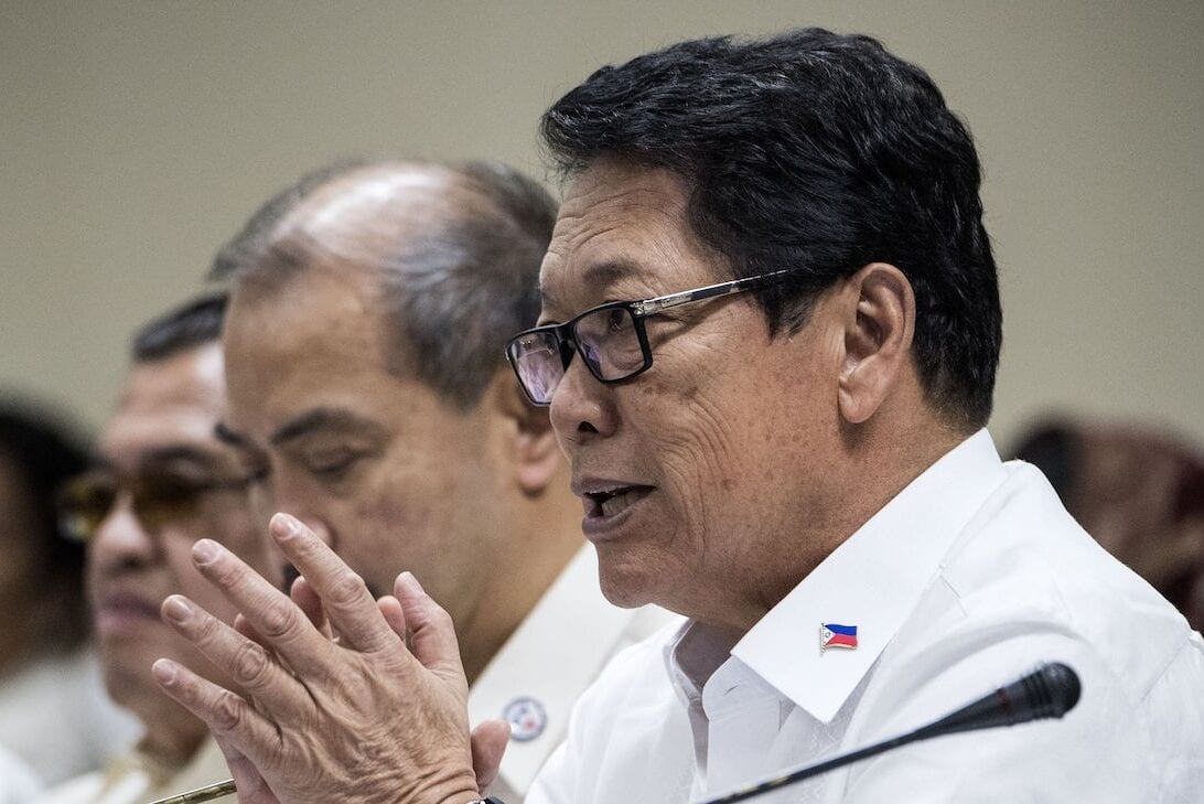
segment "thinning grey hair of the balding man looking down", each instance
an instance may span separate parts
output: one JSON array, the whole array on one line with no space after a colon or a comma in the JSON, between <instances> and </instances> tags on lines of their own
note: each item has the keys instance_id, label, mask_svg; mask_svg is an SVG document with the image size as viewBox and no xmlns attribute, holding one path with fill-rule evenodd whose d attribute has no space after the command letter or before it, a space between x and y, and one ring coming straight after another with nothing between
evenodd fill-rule
<instances>
[{"instance_id":1,"label":"thinning grey hair of the balding man looking down","mask_svg":"<svg viewBox=\"0 0 1204 804\"><path fill-rule=\"evenodd\" d=\"M335 182L347 181L350 191L356 181L388 182L415 169L449 176L483 203L449 211L418 233L405 208L388 200L343 221L337 244L299 231L312 212L307 201ZM332 254L377 272L390 371L417 377L466 410L506 368L506 339L539 315L539 264L555 221L548 191L497 162L341 162L260 207L218 252L209 277L271 286Z\"/></svg>"}]
</instances>

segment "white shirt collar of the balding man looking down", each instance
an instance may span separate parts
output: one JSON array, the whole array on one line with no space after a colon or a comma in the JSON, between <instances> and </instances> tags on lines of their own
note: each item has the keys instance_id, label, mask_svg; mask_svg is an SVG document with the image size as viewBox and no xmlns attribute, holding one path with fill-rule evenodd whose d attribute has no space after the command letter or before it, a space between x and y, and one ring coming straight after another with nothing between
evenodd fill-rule
<instances>
[{"instance_id":1,"label":"white shirt collar of the balding man looking down","mask_svg":"<svg viewBox=\"0 0 1204 804\"><path fill-rule=\"evenodd\" d=\"M520 740L515 737L520 729L512 731L498 773L507 792L519 798L526 793L567 735L577 698L610 660L639 613L602 597L597 554L583 546L472 685L470 722L542 720L535 737Z\"/></svg>"}]
</instances>

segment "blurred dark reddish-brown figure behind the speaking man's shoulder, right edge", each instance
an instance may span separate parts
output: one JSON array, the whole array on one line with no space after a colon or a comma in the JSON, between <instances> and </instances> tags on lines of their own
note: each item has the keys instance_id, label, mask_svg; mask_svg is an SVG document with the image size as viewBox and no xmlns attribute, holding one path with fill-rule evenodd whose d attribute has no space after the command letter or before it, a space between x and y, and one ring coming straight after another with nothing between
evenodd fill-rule
<instances>
[{"instance_id":1,"label":"blurred dark reddish-brown figure behind the speaking man's shoulder, right edge","mask_svg":"<svg viewBox=\"0 0 1204 804\"><path fill-rule=\"evenodd\" d=\"M1135 424L1047 419L1019 442L1079 524L1204 629L1204 454Z\"/></svg>"}]
</instances>

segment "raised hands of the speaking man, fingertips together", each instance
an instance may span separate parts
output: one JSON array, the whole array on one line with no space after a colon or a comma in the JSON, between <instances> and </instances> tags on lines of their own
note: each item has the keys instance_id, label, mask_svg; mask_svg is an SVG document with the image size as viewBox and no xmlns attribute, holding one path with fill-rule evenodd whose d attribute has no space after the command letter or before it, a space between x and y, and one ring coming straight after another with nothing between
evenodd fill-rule
<instances>
[{"instance_id":1,"label":"raised hands of the speaking man, fingertips together","mask_svg":"<svg viewBox=\"0 0 1204 804\"><path fill-rule=\"evenodd\" d=\"M468 687L448 614L408 573L372 599L309 528L270 532L301 573L284 595L222 545L193 561L241 613L231 627L188 598L164 620L241 687L161 658L159 685L208 725L244 804L465 804L497 772L507 727L470 734ZM338 638L331 639L331 629ZM476 769L474 769L476 762Z\"/></svg>"}]
</instances>

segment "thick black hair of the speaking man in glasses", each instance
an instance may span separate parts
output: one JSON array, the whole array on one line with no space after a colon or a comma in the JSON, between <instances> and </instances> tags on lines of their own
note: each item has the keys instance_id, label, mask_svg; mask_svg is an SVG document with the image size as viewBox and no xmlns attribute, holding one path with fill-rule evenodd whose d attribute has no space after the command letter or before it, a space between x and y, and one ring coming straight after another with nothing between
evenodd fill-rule
<instances>
[{"instance_id":1,"label":"thick black hair of the speaking man in glasses","mask_svg":"<svg viewBox=\"0 0 1204 804\"><path fill-rule=\"evenodd\" d=\"M969 132L921 69L867 36L804 29L702 39L602 67L544 114L562 172L607 156L672 170L690 224L757 294L771 332L815 295L890 262L916 296L914 355L931 403L991 413L1002 313Z\"/></svg>"}]
</instances>

